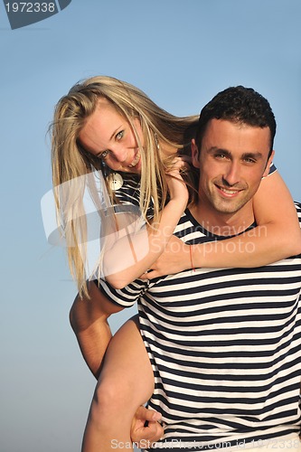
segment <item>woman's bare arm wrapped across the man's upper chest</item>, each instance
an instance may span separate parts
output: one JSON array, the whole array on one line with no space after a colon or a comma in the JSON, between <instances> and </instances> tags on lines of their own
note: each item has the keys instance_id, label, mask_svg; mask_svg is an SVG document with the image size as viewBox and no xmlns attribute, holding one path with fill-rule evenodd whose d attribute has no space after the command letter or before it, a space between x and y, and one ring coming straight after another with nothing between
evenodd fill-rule
<instances>
[{"instance_id":1,"label":"woman's bare arm wrapped across the man's upper chest","mask_svg":"<svg viewBox=\"0 0 301 452\"><path fill-rule=\"evenodd\" d=\"M152 279L189 268L251 268L301 253L301 229L292 197L280 174L262 180L254 196L258 227L239 236L198 245L175 237L143 278Z\"/></svg>"}]
</instances>

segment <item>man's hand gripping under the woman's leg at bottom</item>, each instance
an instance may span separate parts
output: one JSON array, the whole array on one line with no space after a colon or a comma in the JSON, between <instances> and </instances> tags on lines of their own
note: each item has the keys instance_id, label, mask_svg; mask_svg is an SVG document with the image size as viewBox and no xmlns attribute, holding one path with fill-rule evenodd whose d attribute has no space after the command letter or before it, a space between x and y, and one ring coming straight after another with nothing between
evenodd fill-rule
<instances>
[{"instance_id":1,"label":"man's hand gripping under the woman's leg at bottom","mask_svg":"<svg viewBox=\"0 0 301 452\"><path fill-rule=\"evenodd\" d=\"M131 438L138 447L147 448L162 438L164 430L158 420L161 414L154 410L147 410L146 407L139 407L136 410L132 421Z\"/></svg>"}]
</instances>

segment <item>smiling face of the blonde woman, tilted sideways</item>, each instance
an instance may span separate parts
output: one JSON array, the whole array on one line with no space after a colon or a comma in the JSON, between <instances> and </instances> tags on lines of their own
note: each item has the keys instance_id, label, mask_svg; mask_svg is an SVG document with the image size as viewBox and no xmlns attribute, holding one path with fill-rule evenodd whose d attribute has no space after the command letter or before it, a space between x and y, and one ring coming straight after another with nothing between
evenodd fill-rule
<instances>
[{"instance_id":1,"label":"smiling face of the blonde woman, tilted sideways","mask_svg":"<svg viewBox=\"0 0 301 452\"><path fill-rule=\"evenodd\" d=\"M138 119L134 119L134 125L144 146ZM133 129L108 100L99 100L99 106L81 129L79 139L89 153L97 155L112 170L141 173L141 155Z\"/></svg>"}]
</instances>

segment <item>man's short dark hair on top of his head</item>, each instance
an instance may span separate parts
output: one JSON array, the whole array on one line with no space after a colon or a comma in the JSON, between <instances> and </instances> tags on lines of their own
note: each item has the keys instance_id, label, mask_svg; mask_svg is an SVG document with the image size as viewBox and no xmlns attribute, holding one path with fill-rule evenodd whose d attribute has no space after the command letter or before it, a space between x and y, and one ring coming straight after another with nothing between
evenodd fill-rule
<instances>
[{"instance_id":1,"label":"man's short dark hair on top of his head","mask_svg":"<svg viewBox=\"0 0 301 452\"><path fill-rule=\"evenodd\" d=\"M230 87L219 92L202 108L196 133L196 145L201 149L202 136L211 119L246 124L251 127L268 127L270 153L274 146L276 120L268 100L252 88Z\"/></svg>"}]
</instances>

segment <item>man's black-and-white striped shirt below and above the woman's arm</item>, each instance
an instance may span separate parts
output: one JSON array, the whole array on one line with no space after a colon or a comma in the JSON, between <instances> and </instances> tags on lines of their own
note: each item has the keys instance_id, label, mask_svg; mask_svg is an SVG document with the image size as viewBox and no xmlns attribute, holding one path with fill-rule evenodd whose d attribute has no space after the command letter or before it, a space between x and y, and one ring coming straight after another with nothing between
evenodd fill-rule
<instances>
[{"instance_id":1,"label":"man's black-and-white striped shirt below and above the woman's arm","mask_svg":"<svg viewBox=\"0 0 301 452\"><path fill-rule=\"evenodd\" d=\"M174 235L212 246L224 239L188 210ZM118 306L138 303L155 375L149 407L165 423L156 448L256 447L300 430L301 256L100 288Z\"/></svg>"}]
</instances>

